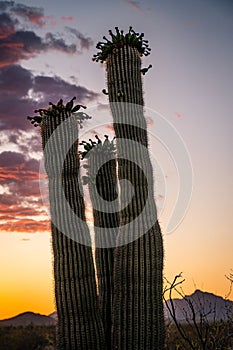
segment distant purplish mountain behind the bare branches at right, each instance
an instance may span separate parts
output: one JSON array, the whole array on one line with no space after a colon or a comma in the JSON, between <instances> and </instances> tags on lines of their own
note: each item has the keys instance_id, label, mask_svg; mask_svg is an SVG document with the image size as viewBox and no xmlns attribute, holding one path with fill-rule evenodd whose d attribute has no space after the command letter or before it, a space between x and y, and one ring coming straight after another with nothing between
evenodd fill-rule
<instances>
[{"instance_id":1,"label":"distant purplish mountain behind the bare branches at right","mask_svg":"<svg viewBox=\"0 0 233 350\"><path fill-rule=\"evenodd\" d=\"M212 293L196 290L193 294L185 296L183 299L173 299L176 312L176 319L180 322L186 322L192 319L192 306L195 310L197 321L205 317L208 321L226 320L229 315L233 317L233 301L225 300ZM190 307L190 305L192 305ZM171 319L168 306L165 305L165 318Z\"/></svg>"}]
</instances>

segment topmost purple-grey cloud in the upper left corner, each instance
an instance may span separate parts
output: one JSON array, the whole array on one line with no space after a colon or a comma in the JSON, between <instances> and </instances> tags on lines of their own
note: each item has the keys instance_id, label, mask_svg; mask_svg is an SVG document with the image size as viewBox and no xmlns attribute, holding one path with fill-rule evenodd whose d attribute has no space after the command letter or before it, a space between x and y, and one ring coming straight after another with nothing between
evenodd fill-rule
<instances>
[{"instance_id":1,"label":"topmost purple-grey cloud in the upper left corner","mask_svg":"<svg viewBox=\"0 0 233 350\"><path fill-rule=\"evenodd\" d=\"M89 49L93 45L91 38L70 27L66 27L66 30L74 36L74 43L67 44L58 33L48 32L44 38L40 37L34 29L35 24L39 27L45 25L42 8L2 1L0 10L0 67L17 64L22 59L27 60L51 50L67 54L80 53L77 39L81 49ZM27 27L33 25L33 30L25 30L25 24Z\"/></svg>"}]
</instances>

